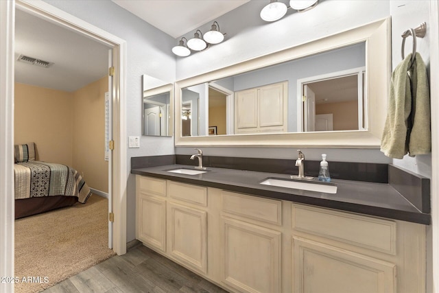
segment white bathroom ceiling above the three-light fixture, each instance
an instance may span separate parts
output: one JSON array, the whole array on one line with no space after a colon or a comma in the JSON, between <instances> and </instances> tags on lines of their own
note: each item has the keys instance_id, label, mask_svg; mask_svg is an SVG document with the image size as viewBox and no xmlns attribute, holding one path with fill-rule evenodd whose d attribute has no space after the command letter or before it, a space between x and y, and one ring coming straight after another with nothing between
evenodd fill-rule
<instances>
[{"instance_id":1,"label":"white bathroom ceiling above the three-light fixture","mask_svg":"<svg viewBox=\"0 0 439 293\"><path fill-rule=\"evenodd\" d=\"M112 0L158 30L178 38L250 0Z\"/></svg>"}]
</instances>

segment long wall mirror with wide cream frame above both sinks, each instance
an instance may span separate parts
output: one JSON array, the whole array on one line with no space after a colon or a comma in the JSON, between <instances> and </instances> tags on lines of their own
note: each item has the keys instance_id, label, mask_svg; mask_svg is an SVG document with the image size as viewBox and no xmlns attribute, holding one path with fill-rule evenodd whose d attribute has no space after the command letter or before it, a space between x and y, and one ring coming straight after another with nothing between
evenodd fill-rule
<instances>
[{"instance_id":1,"label":"long wall mirror with wide cream frame above both sinks","mask_svg":"<svg viewBox=\"0 0 439 293\"><path fill-rule=\"evenodd\" d=\"M390 78L384 19L176 82L176 145L377 148Z\"/></svg>"}]
</instances>

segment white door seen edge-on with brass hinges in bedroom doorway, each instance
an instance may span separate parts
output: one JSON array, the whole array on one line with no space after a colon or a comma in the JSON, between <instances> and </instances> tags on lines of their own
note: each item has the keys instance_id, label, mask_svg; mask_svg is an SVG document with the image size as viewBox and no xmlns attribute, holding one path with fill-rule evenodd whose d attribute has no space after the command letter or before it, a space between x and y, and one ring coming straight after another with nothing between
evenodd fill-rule
<instances>
[{"instance_id":1,"label":"white door seen edge-on with brass hinges in bedroom doorway","mask_svg":"<svg viewBox=\"0 0 439 293\"><path fill-rule=\"evenodd\" d=\"M112 62L112 49L108 50L108 68L113 66ZM113 141L112 135L112 101L114 97L113 92L113 80L112 75L108 74L108 132L106 136L108 136L108 141ZM112 150L110 150L109 145L106 145L108 148L108 215L112 213ZM110 221L110 217L108 217L108 248L112 249L112 222Z\"/></svg>"}]
</instances>

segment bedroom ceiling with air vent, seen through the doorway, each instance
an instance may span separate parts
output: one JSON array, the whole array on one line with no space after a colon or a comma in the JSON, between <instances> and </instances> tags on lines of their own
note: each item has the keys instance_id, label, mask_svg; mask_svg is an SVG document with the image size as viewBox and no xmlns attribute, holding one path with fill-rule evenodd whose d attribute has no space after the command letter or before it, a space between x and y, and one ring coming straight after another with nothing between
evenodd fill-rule
<instances>
[{"instance_id":1,"label":"bedroom ceiling with air vent, seen through the doorway","mask_svg":"<svg viewBox=\"0 0 439 293\"><path fill-rule=\"evenodd\" d=\"M108 47L64 27L16 10L15 57L53 62L48 68L16 61L15 82L76 91L108 74Z\"/></svg>"}]
</instances>

